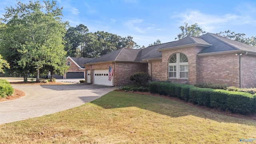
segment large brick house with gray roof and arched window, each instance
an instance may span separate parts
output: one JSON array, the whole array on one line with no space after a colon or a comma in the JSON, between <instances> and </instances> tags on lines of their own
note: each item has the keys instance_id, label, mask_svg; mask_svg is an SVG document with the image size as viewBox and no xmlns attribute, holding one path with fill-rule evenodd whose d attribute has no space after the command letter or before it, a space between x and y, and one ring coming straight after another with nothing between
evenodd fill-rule
<instances>
[{"instance_id":1,"label":"large brick house with gray roof and arched window","mask_svg":"<svg viewBox=\"0 0 256 144\"><path fill-rule=\"evenodd\" d=\"M108 66L114 68L112 82L104 78ZM143 50L115 50L87 62L85 69L87 82L110 86L128 85L130 75L141 71L148 72L153 81L254 88L256 47L207 33Z\"/></svg>"}]
</instances>

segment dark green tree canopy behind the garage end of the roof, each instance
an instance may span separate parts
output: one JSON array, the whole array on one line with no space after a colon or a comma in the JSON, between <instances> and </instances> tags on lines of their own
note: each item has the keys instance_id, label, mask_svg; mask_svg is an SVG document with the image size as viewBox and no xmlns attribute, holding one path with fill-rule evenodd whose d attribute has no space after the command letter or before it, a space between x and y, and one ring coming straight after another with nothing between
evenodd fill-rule
<instances>
[{"instance_id":1,"label":"dark green tree canopy behind the garage end of the roof","mask_svg":"<svg viewBox=\"0 0 256 144\"><path fill-rule=\"evenodd\" d=\"M140 48L131 36L121 37L104 31L88 32L83 24L69 27L65 36L67 56L97 58L120 48Z\"/></svg>"}]
</instances>

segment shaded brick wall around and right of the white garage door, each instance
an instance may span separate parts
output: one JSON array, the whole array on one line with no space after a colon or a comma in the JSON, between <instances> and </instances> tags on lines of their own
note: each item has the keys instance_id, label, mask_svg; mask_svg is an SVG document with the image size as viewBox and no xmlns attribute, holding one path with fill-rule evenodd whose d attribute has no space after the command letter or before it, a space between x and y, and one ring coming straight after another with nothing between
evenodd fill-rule
<instances>
[{"instance_id":1,"label":"shaded brick wall around and right of the white garage door","mask_svg":"<svg viewBox=\"0 0 256 144\"><path fill-rule=\"evenodd\" d=\"M147 63L132 63L132 62L115 62L86 65L85 71L90 70L93 83L93 70L108 69L108 66L114 68L114 84L115 86L130 85L130 75L134 72L147 72ZM85 79L86 80L86 79Z\"/></svg>"}]
</instances>

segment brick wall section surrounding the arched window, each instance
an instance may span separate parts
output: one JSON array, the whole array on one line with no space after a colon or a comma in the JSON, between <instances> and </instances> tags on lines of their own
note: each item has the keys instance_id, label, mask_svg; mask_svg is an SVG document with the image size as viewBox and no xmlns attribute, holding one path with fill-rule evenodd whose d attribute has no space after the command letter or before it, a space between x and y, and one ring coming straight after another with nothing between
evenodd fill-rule
<instances>
[{"instance_id":1,"label":"brick wall section surrounding the arched window","mask_svg":"<svg viewBox=\"0 0 256 144\"><path fill-rule=\"evenodd\" d=\"M188 48L179 48L174 50L166 50L162 52L162 66L164 71L164 79L170 82L196 84L200 79L200 62L197 56L203 48L199 46L191 46ZM188 79L168 78L168 61L170 56L175 53L183 53L188 58Z\"/></svg>"}]
</instances>

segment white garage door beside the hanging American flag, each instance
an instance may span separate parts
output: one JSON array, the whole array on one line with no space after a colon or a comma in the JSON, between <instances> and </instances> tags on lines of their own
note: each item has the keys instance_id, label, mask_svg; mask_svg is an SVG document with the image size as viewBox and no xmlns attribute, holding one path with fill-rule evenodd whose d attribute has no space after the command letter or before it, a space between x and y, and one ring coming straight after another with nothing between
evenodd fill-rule
<instances>
[{"instance_id":1,"label":"white garage door beside the hanging American flag","mask_svg":"<svg viewBox=\"0 0 256 144\"><path fill-rule=\"evenodd\" d=\"M113 77L110 81L108 80L108 69L94 70L93 76L94 84L113 86Z\"/></svg>"}]
</instances>

